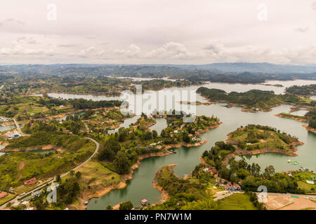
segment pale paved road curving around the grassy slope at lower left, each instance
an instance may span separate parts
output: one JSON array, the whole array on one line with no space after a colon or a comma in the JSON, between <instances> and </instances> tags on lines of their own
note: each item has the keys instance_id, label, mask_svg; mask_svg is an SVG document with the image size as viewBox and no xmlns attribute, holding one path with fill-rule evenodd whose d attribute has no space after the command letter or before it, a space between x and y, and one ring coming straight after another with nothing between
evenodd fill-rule
<instances>
[{"instance_id":1,"label":"pale paved road curving around the grassy slope at lower left","mask_svg":"<svg viewBox=\"0 0 316 224\"><path fill-rule=\"evenodd\" d=\"M14 120L14 121L15 121L15 120ZM15 122L16 122L16 121L15 121ZM18 126L17 126L17 127L18 127ZM91 155L91 157L88 158L88 160L82 162L82 163L81 163L80 165L78 165L77 167L74 167L74 169L72 169L73 171L75 171L75 170L78 169L79 167L82 167L82 166L85 165L87 162L89 162L89 161L96 155L96 153L98 153L98 151L99 151L100 144L98 143L98 141L96 141L96 140L94 140L94 139L91 139L91 138L88 138L88 137L86 137L86 139L89 139L89 140L93 141L93 142L96 144L96 150L95 150L94 153ZM72 170L71 170L71 171L72 171ZM69 174L69 173L70 173L70 171L67 172L67 173L65 173L65 174L60 175L60 177L67 176L67 174ZM34 193L35 191L40 190L41 188L44 188L48 183L53 183L55 180L56 180L56 179L53 178L53 179L51 179L51 180L48 180L48 181L42 183L41 186L39 186L39 187L37 187L37 188L34 188L33 190L28 191L28 192L27 192L25 195L23 195L22 197L25 197L25 196L27 196L27 195L30 195L30 194ZM17 202L18 199L20 199L20 198L21 198L21 197L17 196L17 197L15 197L13 200L8 201L8 202L6 202L5 204L2 204L2 205L0 206L0 209L4 209L4 208L6 207L6 205L7 205L9 202L11 202L11 203Z\"/></svg>"}]
</instances>

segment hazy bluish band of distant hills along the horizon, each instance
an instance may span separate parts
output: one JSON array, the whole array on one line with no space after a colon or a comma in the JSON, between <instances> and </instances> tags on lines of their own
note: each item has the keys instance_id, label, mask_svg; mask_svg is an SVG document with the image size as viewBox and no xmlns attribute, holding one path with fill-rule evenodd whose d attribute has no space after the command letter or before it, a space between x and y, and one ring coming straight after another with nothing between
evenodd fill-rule
<instances>
[{"instance_id":1,"label":"hazy bluish band of distant hills along the horizon","mask_svg":"<svg viewBox=\"0 0 316 224\"><path fill-rule=\"evenodd\" d=\"M46 73L50 75L119 75L119 76L179 76L204 73L316 73L316 64L285 65L269 63L213 64L11 64L0 65L1 71Z\"/></svg>"}]
</instances>

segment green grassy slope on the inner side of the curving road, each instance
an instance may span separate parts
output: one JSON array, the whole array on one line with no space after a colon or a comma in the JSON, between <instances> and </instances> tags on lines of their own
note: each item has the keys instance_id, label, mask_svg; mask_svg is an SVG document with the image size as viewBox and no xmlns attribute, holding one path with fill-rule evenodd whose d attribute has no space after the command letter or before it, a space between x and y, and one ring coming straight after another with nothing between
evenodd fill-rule
<instances>
[{"instance_id":1,"label":"green grassy slope on the inner side of the curving road","mask_svg":"<svg viewBox=\"0 0 316 224\"><path fill-rule=\"evenodd\" d=\"M14 152L1 156L0 171L2 175L0 176L0 189L16 188L22 185L23 181L33 177L47 179L67 172L86 160L96 148L96 145L88 139L67 138L65 141L71 139L72 142L65 144L69 148L62 153L41 155L31 152Z\"/></svg>"}]
</instances>

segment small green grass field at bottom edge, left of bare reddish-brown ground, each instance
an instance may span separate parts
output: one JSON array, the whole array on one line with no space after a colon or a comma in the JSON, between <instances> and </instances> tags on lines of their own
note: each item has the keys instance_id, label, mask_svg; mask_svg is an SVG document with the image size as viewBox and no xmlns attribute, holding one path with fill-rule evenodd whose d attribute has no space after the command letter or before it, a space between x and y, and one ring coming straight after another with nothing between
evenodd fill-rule
<instances>
[{"instance_id":1,"label":"small green grass field at bottom edge, left of bare reddish-brown ground","mask_svg":"<svg viewBox=\"0 0 316 224\"><path fill-rule=\"evenodd\" d=\"M218 202L218 210L257 210L249 195L233 194Z\"/></svg>"}]
</instances>

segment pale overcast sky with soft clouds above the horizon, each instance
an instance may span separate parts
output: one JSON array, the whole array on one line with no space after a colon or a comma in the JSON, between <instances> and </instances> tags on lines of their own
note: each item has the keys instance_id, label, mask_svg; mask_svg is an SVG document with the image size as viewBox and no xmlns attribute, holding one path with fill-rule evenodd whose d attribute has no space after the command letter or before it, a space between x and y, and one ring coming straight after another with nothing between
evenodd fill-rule
<instances>
[{"instance_id":1,"label":"pale overcast sky with soft clouds above the horizon","mask_svg":"<svg viewBox=\"0 0 316 224\"><path fill-rule=\"evenodd\" d=\"M213 62L316 64L316 1L0 2L0 64Z\"/></svg>"}]
</instances>

